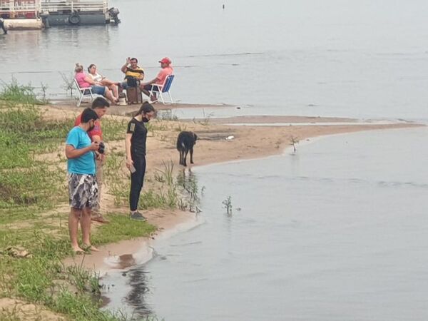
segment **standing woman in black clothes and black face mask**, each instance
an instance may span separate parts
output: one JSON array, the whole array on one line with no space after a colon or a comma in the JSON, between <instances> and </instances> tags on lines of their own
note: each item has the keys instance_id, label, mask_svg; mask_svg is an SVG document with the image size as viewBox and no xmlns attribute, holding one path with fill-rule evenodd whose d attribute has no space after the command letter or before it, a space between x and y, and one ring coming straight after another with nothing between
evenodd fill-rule
<instances>
[{"instance_id":1,"label":"standing woman in black clothes and black face mask","mask_svg":"<svg viewBox=\"0 0 428 321\"><path fill-rule=\"evenodd\" d=\"M129 209L134 220L146 220L138 212L138 200L143 188L144 173L146 173L146 140L147 123L156 115L155 108L147 101L128 123L126 131L126 167L131 170L131 191L129 192Z\"/></svg>"}]
</instances>

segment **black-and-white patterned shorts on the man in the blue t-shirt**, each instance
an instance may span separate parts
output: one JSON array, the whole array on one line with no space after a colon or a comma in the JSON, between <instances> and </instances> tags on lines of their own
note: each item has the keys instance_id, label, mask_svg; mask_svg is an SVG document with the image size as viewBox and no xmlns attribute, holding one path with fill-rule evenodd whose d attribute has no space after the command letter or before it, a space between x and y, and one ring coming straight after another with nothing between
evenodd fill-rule
<instances>
[{"instance_id":1,"label":"black-and-white patterned shorts on the man in the blue t-shirt","mask_svg":"<svg viewBox=\"0 0 428 321\"><path fill-rule=\"evenodd\" d=\"M68 200L72 208L96 208L98 183L95 175L68 174Z\"/></svg>"}]
</instances>

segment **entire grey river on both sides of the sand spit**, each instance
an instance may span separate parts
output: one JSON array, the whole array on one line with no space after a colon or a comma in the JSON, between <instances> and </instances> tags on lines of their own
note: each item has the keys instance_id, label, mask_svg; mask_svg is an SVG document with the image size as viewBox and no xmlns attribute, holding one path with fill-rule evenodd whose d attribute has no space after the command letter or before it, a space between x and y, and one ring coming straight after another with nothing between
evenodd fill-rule
<instances>
[{"instance_id":1,"label":"entire grey river on both sides of the sand spit","mask_svg":"<svg viewBox=\"0 0 428 321\"><path fill-rule=\"evenodd\" d=\"M428 121L427 1L111 5L118 26L0 36L0 80L44 83L55 101L76 62L121 79L136 56L153 78L170 56L176 101L241 107L180 118ZM106 308L167 321L427 320L427 138L424 128L330 136L294 155L193 168L205 186L199 224L156 240L146 265L108 275Z\"/></svg>"}]
</instances>

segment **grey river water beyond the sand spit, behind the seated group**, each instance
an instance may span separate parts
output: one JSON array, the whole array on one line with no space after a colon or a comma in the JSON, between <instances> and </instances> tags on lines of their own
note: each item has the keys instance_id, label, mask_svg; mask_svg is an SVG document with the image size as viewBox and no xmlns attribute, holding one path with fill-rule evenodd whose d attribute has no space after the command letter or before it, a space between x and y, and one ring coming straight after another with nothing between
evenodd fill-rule
<instances>
[{"instance_id":1,"label":"grey river water beyond the sand spit, behind the seated group","mask_svg":"<svg viewBox=\"0 0 428 321\"><path fill-rule=\"evenodd\" d=\"M96 63L121 79L127 56L147 78L170 56L186 103L242 106L213 116L271 114L428 119L428 2L383 0L111 0L118 26L14 31L0 37L0 79L43 82ZM225 9L223 9L225 4ZM41 73L42 72L42 73ZM180 117L200 111L178 112Z\"/></svg>"}]
</instances>

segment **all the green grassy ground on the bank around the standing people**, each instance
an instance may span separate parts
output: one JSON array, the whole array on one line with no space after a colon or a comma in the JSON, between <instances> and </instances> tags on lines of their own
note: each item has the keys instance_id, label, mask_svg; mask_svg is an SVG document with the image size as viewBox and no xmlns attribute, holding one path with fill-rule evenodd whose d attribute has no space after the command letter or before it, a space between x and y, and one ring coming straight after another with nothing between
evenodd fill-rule
<instances>
[{"instance_id":1,"label":"all the green grassy ground on the bank around the standing people","mask_svg":"<svg viewBox=\"0 0 428 321\"><path fill-rule=\"evenodd\" d=\"M98 275L61 263L72 255L63 142L73 119L47 121L39 103L29 86L12 83L0 92L0 296L32 302L65 320L127 320L120 312L98 309ZM106 121L103 126L108 140L123 139L123 122ZM117 205L126 203L128 191L126 173L120 173L122 160L123 152L113 149L105 170ZM143 195L143 207L188 204L178 198L178 181L168 176L172 168L165 165L164 170L152 178L158 188ZM156 230L120 213L109 213L108 218L110 224L93 231L96 245ZM38 311L32 317L44 320ZM27 317L19 308L0 309L0 320Z\"/></svg>"}]
</instances>

